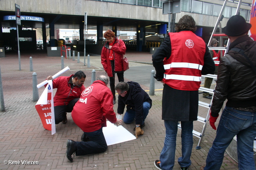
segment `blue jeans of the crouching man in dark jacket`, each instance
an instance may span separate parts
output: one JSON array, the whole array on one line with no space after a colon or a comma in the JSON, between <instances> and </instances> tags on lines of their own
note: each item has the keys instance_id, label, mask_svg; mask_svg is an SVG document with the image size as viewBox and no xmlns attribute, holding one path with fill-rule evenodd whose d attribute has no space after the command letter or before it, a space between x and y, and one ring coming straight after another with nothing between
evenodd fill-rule
<instances>
[{"instance_id":1,"label":"blue jeans of the crouching man in dark jacket","mask_svg":"<svg viewBox=\"0 0 256 170\"><path fill-rule=\"evenodd\" d=\"M150 103L149 102L144 102L143 103L143 123L144 124L144 121L146 119L146 117L148 116L148 112L149 112L149 109L150 109ZM132 123L133 120L135 119L135 115L136 115L136 112L135 110L126 110L125 114L124 114L124 118L123 118L123 121L125 124L128 124L128 123Z\"/></svg>"}]
</instances>

